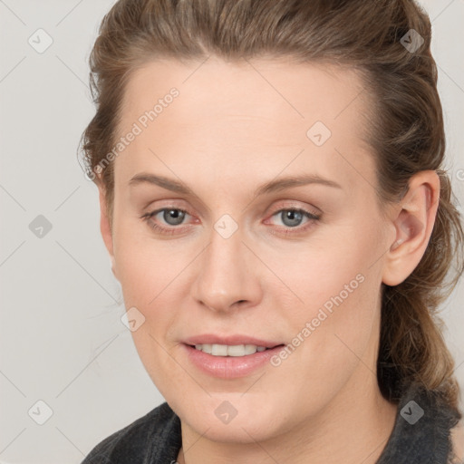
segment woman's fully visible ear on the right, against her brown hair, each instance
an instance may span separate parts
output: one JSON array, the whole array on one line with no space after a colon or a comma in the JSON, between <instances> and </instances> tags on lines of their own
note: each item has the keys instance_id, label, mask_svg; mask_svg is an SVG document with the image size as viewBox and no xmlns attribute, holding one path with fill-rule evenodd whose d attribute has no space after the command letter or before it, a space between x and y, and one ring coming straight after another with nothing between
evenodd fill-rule
<instances>
[{"instance_id":1,"label":"woman's fully visible ear on the right, against her brown hair","mask_svg":"<svg viewBox=\"0 0 464 464\"><path fill-rule=\"evenodd\" d=\"M411 177L409 190L391 215L396 238L384 261L382 282L399 285L411 275L429 244L440 199L440 178L434 170Z\"/></svg>"}]
</instances>

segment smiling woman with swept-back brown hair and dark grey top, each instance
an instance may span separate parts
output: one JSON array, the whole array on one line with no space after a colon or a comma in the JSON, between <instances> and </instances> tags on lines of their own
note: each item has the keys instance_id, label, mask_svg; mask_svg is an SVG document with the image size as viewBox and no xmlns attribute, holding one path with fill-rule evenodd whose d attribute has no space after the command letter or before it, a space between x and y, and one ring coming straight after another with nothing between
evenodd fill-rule
<instances>
[{"instance_id":1,"label":"smiling woman with swept-back brown hair and dark grey top","mask_svg":"<svg viewBox=\"0 0 464 464\"><path fill-rule=\"evenodd\" d=\"M166 402L83 462L461 462L435 313L463 233L419 6L120 0L91 67L88 175Z\"/></svg>"}]
</instances>

